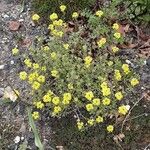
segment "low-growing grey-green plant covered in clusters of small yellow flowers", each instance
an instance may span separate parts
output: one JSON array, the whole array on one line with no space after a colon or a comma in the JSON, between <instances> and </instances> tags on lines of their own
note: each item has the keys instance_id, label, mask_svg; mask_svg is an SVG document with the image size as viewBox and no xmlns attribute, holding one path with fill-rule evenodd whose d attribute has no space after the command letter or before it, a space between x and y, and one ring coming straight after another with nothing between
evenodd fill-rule
<instances>
[{"instance_id":1,"label":"low-growing grey-green plant covered in clusters of small yellow flowers","mask_svg":"<svg viewBox=\"0 0 150 150\"><path fill-rule=\"evenodd\" d=\"M32 16L35 22L39 18ZM128 113L126 97L139 77L119 56L118 45L125 38L120 25L108 23L107 18L105 9L94 14L73 12L71 23L56 13L50 15L49 40L36 38L19 74L30 86L35 120L42 112L51 117L74 113L79 130L106 121L107 131L113 132L114 119L108 118Z\"/></svg>"}]
</instances>

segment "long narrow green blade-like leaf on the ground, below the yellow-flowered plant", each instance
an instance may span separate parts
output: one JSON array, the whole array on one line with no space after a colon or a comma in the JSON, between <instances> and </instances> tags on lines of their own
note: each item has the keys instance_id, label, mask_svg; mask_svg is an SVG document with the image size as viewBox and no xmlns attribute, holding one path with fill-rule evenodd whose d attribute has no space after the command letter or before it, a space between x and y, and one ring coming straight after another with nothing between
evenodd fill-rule
<instances>
[{"instance_id":1,"label":"long narrow green blade-like leaf on the ground, below the yellow-flowered plant","mask_svg":"<svg viewBox=\"0 0 150 150\"><path fill-rule=\"evenodd\" d=\"M43 146L43 144L42 144L42 142L40 140L40 137L38 135L38 131L37 131L36 125L35 125L34 120L32 118L31 109L27 108L27 112L28 112L28 118L29 118L29 125L32 128L32 131L34 133L35 145L39 148L39 150L44 150L44 146Z\"/></svg>"}]
</instances>

